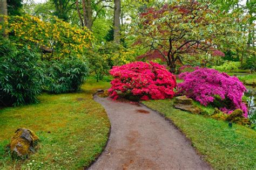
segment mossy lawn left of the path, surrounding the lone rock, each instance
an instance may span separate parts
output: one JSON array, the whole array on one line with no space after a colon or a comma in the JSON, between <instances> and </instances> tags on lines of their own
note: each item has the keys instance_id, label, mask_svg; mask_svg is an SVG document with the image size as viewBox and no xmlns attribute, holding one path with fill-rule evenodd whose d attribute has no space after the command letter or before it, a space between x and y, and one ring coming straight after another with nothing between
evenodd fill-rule
<instances>
[{"instance_id":1,"label":"mossy lawn left of the path, surrounding the lone rock","mask_svg":"<svg viewBox=\"0 0 256 170\"><path fill-rule=\"evenodd\" d=\"M103 151L110 122L104 108L92 100L109 82L89 79L82 91L42 94L39 104L0 110L0 169L77 169L87 167ZM12 160L5 146L18 128L40 138L39 150L28 160Z\"/></svg>"}]
</instances>

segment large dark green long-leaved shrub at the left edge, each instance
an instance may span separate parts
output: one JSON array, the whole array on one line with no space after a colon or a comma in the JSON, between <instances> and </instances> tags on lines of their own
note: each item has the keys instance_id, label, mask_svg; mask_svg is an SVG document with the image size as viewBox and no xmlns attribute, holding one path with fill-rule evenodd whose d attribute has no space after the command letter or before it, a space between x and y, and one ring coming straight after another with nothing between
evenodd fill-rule
<instances>
[{"instance_id":1,"label":"large dark green long-leaved shrub at the left edge","mask_svg":"<svg viewBox=\"0 0 256 170\"><path fill-rule=\"evenodd\" d=\"M0 105L38 102L36 96L41 92L44 75L39 54L1 38L0 61Z\"/></svg>"}]
</instances>

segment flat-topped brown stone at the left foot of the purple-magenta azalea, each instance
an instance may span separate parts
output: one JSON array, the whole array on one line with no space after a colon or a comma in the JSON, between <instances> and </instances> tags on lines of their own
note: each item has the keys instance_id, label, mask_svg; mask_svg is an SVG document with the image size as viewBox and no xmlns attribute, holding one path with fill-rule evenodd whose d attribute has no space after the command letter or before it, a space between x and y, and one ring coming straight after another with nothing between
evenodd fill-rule
<instances>
[{"instance_id":1,"label":"flat-topped brown stone at the left foot of the purple-magenta azalea","mask_svg":"<svg viewBox=\"0 0 256 170\"><path fill-rule=\"evenodd\" d=\"M200 108L193 105L193 100L191 98L187 98L186 96L176 97L174 103L174 108L185 110L191 112L192 114L200 114L202 112Z\"/></svg>"}]
</instances>

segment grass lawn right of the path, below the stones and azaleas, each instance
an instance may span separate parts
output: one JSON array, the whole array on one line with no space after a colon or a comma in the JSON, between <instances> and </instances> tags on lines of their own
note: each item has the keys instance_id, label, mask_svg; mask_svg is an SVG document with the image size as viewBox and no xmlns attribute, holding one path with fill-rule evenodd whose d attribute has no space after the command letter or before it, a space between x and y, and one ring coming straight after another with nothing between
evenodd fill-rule
<instances>
[{"instance_id":1,"label":"grass lawn right of the path, below the stones and azaleas","mask_svg":"<svg viewBox=\"0 0 256 170\"><path fill-rule=\"evenodd\" d=\"M170 119L214 169L255 169L256 131L173 108L173 100L143 102Z\"/></svg>"}]
</instances>

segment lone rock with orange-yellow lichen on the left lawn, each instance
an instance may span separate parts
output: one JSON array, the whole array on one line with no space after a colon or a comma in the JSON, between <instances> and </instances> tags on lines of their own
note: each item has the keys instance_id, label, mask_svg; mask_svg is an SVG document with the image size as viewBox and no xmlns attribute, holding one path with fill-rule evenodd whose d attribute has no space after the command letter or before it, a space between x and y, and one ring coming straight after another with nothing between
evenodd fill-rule
<instances>
[{"instance_id":1,"label":"lone rock with orange-yellow lichen on the left lawn","mask_svg":"<svg viewBox=\"0 0 256 170\"><path fill-rule=\"evenodd\" d=\"M28 158L30 153L35 152L38 140L39 138L33 131L25 128L17 129L9 144L12 157L20 159Z\"/></svg>"}]
</instances>

